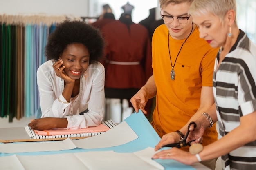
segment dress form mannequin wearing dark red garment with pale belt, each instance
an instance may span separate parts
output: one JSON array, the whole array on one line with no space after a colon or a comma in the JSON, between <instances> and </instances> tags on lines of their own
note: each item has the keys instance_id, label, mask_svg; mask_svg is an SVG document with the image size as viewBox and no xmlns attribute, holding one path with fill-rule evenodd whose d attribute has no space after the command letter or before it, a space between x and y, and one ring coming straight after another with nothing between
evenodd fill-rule
<instances>
[{"instance_id":1,"label":"dress form mannequin wearing dark red garment with pale belt","mask_svg":"<svg viewBox=\"0 0 256 170\"><path fill-rule=\"evenodd\" d=\"M132 22L134 6L127 3L121 8L124 13L119 20L102 28L107 43L103 64L106 69L105 97L121 99L121 105L122 100L127 99L132 107L130 98L152 75L150 38L144 26Z\"/></svg>"}]
</instances>

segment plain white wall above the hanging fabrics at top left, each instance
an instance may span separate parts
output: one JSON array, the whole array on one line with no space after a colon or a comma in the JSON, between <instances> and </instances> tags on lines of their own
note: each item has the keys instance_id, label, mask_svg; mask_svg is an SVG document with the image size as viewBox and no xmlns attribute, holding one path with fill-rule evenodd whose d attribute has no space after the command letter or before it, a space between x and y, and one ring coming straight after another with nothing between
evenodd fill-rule
<instances>
[{"instance_id":1,"label":"plain white wall above the hanging fabrics at top left","mask_svg":"<svg viewBox=\"0 0 256 170\"><path fill-rule=\"evenodd\" d=\"M0 0L0 13L7 15L88 15L89 0Z\"/></svg>"}]
</instances>

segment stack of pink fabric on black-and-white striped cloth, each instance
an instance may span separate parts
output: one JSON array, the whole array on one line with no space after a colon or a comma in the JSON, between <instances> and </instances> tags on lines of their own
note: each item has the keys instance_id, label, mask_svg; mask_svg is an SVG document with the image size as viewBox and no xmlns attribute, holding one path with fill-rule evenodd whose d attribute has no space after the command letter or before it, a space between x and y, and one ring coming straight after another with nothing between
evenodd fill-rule
<instances>
[{"instance_id":1,"label":"stack of pink fabric on black-and-white striped cloth","mask_svg":"<svg viewBox=\"0 0 256 170\"><path fill-rule=\"evenodd\" d=\"M97 127L75 129L75 130L64 130L59 128L58 130L32 130L29 126L25 126L25 130L29 137L33 139L50 139L50 138L67 138L67 137L91 137L99 135L107 130L117 126L112 120L106 120L101 122L101 125Z\"/></svg>"}]
</instances>

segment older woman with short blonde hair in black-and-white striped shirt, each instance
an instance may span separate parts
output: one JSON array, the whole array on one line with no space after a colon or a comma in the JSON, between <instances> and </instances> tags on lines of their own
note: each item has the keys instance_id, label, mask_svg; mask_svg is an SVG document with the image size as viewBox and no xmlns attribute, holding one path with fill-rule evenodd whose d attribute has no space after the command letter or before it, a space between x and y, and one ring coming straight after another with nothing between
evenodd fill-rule
<instances>
[{"instance_id":1,"label":"older woman with short blonde hair in black-and-white striped shirt","mask_svg":"<svg viewBox=\"0 0 256 170\"><path fill-rule=\"evenodd\" d=\"M194 0L189 9L200 38L220 47L215 59L213 95L208 110L218 121L221 139L196 155L177 148L163 150L154 159L175 159L185 164L222 157L222 169L256 169L256 45L238 29L236 0ZM199 117L190 139L201 134L209 121ZM194 131L192 131L194 130Z\"/></svg>"}]
</instances>

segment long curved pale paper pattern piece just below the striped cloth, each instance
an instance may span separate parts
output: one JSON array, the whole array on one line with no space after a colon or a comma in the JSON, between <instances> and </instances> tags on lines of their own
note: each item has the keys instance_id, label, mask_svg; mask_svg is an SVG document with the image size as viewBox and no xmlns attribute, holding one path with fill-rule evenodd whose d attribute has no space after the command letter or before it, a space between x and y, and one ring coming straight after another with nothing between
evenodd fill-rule
<instances>
[{"instance_id":1,"label":"long curved pale paper pattern piece just below the striped cloth","mask_svg":"<svg viewBox=\"0 0 256 170\"><path fill-rule=\"evenodd\" d=\"M106 135L105 135L106 133ZM126 144L138 138L136 133L124 121L115 128L104 132L101 135L89 137L85 139L72 140L67 138L63 141L44 141L44 142L25 142L25 143L8 143L0 144L0 152L2 153L24 153L24 152L43 152L43 151L59 151L74 148L105 148Z\"/></svg>"}]
</instances>

